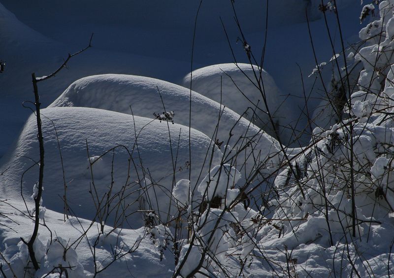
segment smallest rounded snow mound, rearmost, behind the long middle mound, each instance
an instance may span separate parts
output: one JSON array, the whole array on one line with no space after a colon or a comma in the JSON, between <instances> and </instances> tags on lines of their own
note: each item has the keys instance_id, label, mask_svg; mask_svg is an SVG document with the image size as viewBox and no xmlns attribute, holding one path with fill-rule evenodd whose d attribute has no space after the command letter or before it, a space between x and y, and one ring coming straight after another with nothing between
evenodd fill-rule
<instances>
[{"instance_id":1,"label":"smallest rounded snow mound, rearmost, behind the long middle mound","mask_svg":"<svg viewBox=\"0 0 394 278\"><path fill-rule=\"evenodd\" d=\"M275 136L269 121L263 96L259 90L257 79L262 79L262 91L265 95L270 114L273 116L280 138L285 143L291 139L291 132L286 125L292 121L291 110L286 104L286 97L281 95L272 77L264 70L250 64L219 64L202 69L196 69L186 75L183 85L190 88L192 75L192 90L222 103L231 110L251 120L263 128L271 136ZM257 79L256 79L257 78ZM256 107L256 104L258 106ZM256 111L255 114L253 111ZM284 116L286 115L286 116Z\"/></svg>"}]
</instances>

